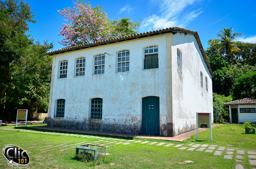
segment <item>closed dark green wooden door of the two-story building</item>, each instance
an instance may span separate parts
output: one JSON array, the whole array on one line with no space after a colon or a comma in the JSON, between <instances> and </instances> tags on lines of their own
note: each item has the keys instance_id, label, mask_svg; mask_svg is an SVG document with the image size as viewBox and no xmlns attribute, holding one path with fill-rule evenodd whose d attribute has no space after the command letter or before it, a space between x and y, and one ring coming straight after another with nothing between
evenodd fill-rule
<instances>
[{"instance_id":1,"label":"closed dark green wooden door of the two-story building","mask_svg":"<svg viewBox=\"0 0 256 169\"><path fill-rule=\"evenodd\" d=\"M160 134L159 97L142 98L142 134Z\"/></svg>"}]
</instances>

